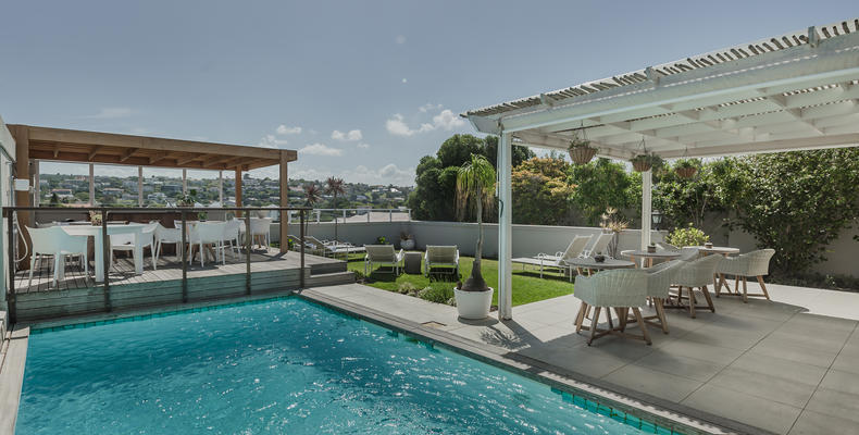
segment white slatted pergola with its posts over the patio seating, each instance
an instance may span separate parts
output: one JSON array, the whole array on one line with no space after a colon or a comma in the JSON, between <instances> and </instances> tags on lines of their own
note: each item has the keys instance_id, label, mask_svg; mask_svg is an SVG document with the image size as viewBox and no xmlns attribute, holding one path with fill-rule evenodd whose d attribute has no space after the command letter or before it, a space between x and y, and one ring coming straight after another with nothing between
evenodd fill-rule
<instances>
[{"instance_id":1,"label":"white slatted pergola with its posts over the patio seating","mask_svg":"<svg viewBox=\"0 0 859 435\"><path fill-rule=\"evenodd\" d=\"M598 156L700 158L859 146L859 18L462 114L498 147L499 318L512 318L511 145ZM650 172L642 174L642 245L650 241Z\"/></svg>"}]
</instances>

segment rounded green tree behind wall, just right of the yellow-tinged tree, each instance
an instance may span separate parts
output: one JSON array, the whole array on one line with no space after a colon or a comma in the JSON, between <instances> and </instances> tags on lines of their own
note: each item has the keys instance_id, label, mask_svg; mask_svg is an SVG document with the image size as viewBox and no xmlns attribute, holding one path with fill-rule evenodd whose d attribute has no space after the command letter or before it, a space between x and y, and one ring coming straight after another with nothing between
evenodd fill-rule
<instances>
[{"instance_id":1,"label":"rounded green tree behind wall, just right of the yellow-tinged tree","mask_svg":"<svg viewBox=\"0 0 859 435\"><path fill-rule=\"evenodd\" d=\"M626 172L623 163L599 158L587 164L571 166L569 184L575 185L573 204L582 212L588 225L597 226L608 208L622 211L640 202L642 187L635 175Z\"/></svg>"}]
</instances>

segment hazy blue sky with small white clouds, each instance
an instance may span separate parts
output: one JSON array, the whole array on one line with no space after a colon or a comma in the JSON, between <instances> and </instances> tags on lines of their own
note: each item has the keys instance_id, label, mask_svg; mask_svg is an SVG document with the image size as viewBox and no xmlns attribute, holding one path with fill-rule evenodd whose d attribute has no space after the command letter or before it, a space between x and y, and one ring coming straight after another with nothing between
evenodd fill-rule
<instances>
[{"instance_id":1,"label":"hazy blue sky with small white clouds","mask_svg":"<svg viewBox=\"0 0 859 435\"><path fill-rule=\"evenodd\" d=\"M466 110L859 15L855 0L0 0L0 11L7 123L295 149L290 178L396 185L413 185L447 137L475 133ZM42 163L57 171L87 170ZM97 170L114 173L136 171Z\"/></svg>"}]
</instances>

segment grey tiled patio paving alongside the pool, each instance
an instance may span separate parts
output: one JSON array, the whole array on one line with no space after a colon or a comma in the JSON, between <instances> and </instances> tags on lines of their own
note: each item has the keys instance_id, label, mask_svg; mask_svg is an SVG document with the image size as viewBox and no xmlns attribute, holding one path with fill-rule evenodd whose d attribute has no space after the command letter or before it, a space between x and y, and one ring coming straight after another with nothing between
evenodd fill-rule
<instances>
[{"instance_id":1,"label":"grey tiled patio paving alongside the pool","mask_svg":"<svg viewBox=\"0 0 859 435\"><path fill-rule=\"evenodd\" d=\"M749 284L752 287L751 284ZM715 313L668 312L652 346L618 337L586 345L574 296L515 307L513 320L460 321L456 308L362 285L314 288L684 407L779 434L859 434L859 294L768 285L773 301L715 299ZM754 286L754 291L757 291ZM752 288L749 288L752 291ZM495 313L494 313L495 314ZM432 324L430 324L432 325Z\"/></svg>"}]
</instances>

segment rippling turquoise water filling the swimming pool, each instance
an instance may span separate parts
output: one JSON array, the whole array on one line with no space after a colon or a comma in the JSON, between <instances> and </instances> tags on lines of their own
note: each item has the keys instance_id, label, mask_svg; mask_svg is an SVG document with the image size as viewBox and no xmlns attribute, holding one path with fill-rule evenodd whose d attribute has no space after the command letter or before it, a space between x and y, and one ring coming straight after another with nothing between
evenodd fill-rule
<instances>
[{"instance_id":1,"label":"rippling turquoise water filling the swimming pool","mask_svg":"<svg viewBox=\"0 0 859 435\"><path fill-rule=\"evenodd\" d=\"M642 433L588 406L287 298L34 334L16 433Z\"/></svg>"}]
</instances>

